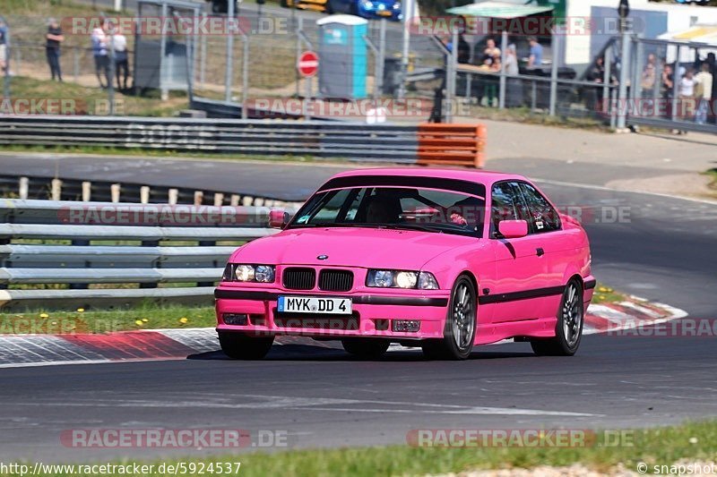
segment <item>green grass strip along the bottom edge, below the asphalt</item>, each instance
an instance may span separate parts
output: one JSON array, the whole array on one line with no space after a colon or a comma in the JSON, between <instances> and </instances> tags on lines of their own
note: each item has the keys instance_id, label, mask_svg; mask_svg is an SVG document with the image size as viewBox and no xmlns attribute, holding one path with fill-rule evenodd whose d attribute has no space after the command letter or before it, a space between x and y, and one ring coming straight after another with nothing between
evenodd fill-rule
<instances>
[{"instance_id":1,"label":"green grass strip along the bottom edge, below the asphalt","mask_svg":"<svg viewBox=\"0 0 717 477\"><path fill-rule=\"evenodd\" d=\"M612 434L613 431L608 432ZM636 465L643 462L652 468L655 464L673 464L682 459L709 461L717 456L717 447L715 447L717 422L715 421L689 422L679 426L649 430L625 430L618 446L611 446L606 439L603 439L606 435L605 431L596 431L596 435L597 441L589 447L358 447L172 458L145 463L155 465L155 472L149 475L166 475L167 473L156 471L156 466L162 463L240 462L239 474L246 477L265 475L373 477L570 464L584 464L596 471L609 473L618 464L623 464L627 470L635 471ZM46 475L68 474L46 473Z\"/></svg>"}]
</instances>

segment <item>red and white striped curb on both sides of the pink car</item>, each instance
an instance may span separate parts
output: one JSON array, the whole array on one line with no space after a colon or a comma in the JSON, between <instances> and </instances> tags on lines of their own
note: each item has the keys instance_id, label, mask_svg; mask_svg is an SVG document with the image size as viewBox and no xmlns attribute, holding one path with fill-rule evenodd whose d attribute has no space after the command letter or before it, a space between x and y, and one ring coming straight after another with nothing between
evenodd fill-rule
<instances>
[{"instance_id":1,"label":"red and white striped curb on both sides of the pink car","mask_svg":"<svg viewBox=\"0 0 717 477\"><path fill-rule=\"evenodd\" d=\"M625 302L591 305L585 315L583 334L616 332L686 316L687 312L669 305L629 297ZM280 336L276 344L330 347L310 338L289 336ZM103 335L2 335L0 368L179 360L219 349L214 328L138 330ZM389 351L402 349L405 348L392 345Z\"/></svg>"}]
</instances>

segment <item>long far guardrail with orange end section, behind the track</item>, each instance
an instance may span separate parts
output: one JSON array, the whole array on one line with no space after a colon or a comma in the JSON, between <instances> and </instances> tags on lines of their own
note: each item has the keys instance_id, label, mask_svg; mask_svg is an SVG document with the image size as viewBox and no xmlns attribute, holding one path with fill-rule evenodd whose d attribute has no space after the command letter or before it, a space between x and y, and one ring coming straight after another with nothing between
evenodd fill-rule
<instances>
[{"instance_id":1,"label":"long far guardrail with orange end section, behind the track","mask_svg":"<svg viewBox=\"0 0 717 477\"><path fill-rule=\"evenodd\" d=\"M478 124L0 115L0 145L167 149L460 166L482 165L485 135L480 136L481 131L484 128Z\"/></svg>"}]
</instances>

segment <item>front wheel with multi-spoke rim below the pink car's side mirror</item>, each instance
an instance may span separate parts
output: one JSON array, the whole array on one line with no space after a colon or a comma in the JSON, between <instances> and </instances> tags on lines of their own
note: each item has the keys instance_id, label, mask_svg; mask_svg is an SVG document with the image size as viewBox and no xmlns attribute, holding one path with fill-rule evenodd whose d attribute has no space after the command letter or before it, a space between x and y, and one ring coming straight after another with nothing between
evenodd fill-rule
<instances>
[{"instance_id":1,"label":"front wheel with multi-spoke rim below the pink car's side mirror","mask_svg":"<svg viewBox=\"0 0 717 477\"><path fill-rule=\"evenodd\" d=\"M454 283L443 339L430 339L421 345L431 360L465 360L471 355L476 337L478 301L476 288L469 277L462 275Z\"/></svg>"}]
</instances>

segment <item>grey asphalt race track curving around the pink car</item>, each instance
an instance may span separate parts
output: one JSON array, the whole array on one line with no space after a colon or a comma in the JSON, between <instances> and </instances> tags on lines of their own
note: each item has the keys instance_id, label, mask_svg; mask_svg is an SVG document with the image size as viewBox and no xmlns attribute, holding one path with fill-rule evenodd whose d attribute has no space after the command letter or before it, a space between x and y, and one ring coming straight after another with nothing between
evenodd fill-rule
<instances>
[{"instance_id":1,"label":"grey asphalt race track curving around the pink car","mask_svg":"<svg viewBox=\"0 0 717 477\"><path fill-rule=\"evenodd\" d=\"M49 168L47 159L37 161ZM89 161L73 164L78 171L63 164L64 176L96 172ZM162 163L152 164L154 171ZM164 164L165 182L183 175L187 185L216 189L217 181L233 180L238 191L251 184L267 195L286 188L280 171L305 191L338 170L225 161L186 176ZM4 174L13 174L13 161L4 165ZM549 177L539 183L559 206L583 207L600 281L681 308L689 318L717 317L717 205L608 191L590 176L583 185L552 182L563 179L549 161L490 166ZM22 167L30 174L39 162L25 159ZM606 167L602 174L625 171ZM612 220L615 213L623 220ZM129 454L64 447L60 433L77 428L287 430L290 447L335 447L403 443L416 429L658 425L717 415L716 371L715 338L692 336L585 336L573 358L538 358L517 343L477 348L467 362L427 362L419 351L361 362L340 350L285 345L263 362L231 362L216 352L185 361L3 369L0 460ZM172 452L188 453L131 449L133 457Z\"/></svg>"}]
</instances>

